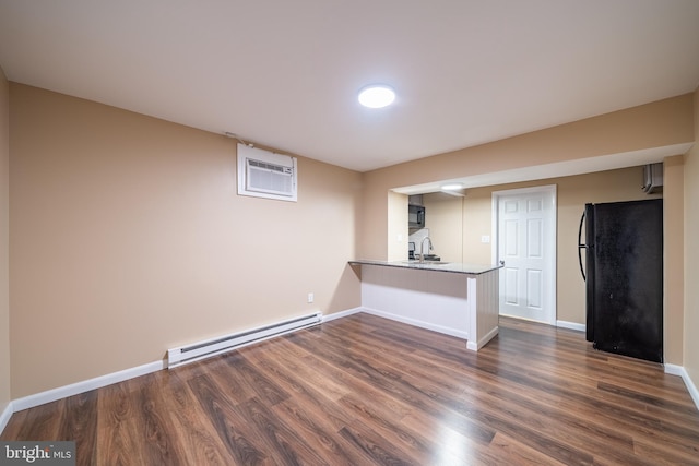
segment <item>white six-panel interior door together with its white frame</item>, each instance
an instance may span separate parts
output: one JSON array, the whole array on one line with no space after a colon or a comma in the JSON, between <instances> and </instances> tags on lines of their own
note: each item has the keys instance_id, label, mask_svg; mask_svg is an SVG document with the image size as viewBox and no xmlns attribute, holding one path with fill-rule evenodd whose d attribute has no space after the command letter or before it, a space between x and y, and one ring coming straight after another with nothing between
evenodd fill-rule
<instances>
[{"instance_id":1,"label":"white six-panel interior door together with its white frame","mask_svg":"<svg viewBox=\"0 0 699 466\"><path fill-rule=\"evenodd\" d=\"M556 324L556 187L493 193L500 314Z\"/></svg>"}]
</instances>

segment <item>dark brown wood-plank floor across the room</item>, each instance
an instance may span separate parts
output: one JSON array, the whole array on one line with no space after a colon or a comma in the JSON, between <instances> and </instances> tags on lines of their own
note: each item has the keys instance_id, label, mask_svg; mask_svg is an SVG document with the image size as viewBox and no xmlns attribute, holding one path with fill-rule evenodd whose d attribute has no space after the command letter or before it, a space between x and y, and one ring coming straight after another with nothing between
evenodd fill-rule
<instances>
[{"instance_id":1,"label":"dark brown wood-plank floor across the room","mask_svg":"<svg viewBox=\"0 0 699 466\"><path fill-rule=\"evenodd\" d=\"M368 314L16 413L1 440L81 465L699 464L660 365L501 319L478 353Z\"/></svg>"}]
</instances>

